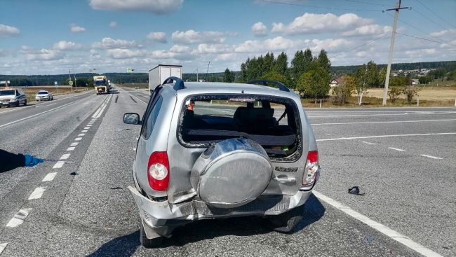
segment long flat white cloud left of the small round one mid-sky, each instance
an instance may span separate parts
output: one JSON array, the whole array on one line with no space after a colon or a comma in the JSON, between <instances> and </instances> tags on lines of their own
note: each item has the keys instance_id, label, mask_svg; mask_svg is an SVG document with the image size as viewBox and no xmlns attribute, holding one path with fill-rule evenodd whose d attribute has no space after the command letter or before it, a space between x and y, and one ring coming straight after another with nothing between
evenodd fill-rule
<instances>
[{"instance_id":1,"label":"long flat white cloud left of the small round one mid-sky","mask_svg":"<svg viewBox=\"0 0 456 257\"><path fill-rule=\"evenodd\" d=\"M176 31L171 35L174 43L189 45L194 43L223 43L225 36L235 36L231 32L196 32L193 29L186 32Z\"/></svg>"}]
</instances>

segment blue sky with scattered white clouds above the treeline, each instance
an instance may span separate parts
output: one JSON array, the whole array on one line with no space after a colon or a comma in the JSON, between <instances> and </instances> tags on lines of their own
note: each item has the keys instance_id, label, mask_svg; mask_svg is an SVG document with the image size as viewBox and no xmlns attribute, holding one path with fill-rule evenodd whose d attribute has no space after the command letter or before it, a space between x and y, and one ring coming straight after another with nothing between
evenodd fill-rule
<instances>
[{"instance_id":1,"label":"blue sky with scattered white clouds above the treeline","mask_svg":"<svg viewBox=\"0 0 456 257\"><path fill-rule=\"evenodd\" d=\"M239 70L311 48L333 65L387 62L395 0L1 0L0 74L99 73L182 64ZM394 62L456 60L456 1L403 0ZM434 12L434 13L433 13ZM438 17L437 17L438 14ZM416 39L409 36L417 36ZM380 39L379 39L380 38ZM423 40L428 39L428 41Z\"/></svg>"}]
</instances>

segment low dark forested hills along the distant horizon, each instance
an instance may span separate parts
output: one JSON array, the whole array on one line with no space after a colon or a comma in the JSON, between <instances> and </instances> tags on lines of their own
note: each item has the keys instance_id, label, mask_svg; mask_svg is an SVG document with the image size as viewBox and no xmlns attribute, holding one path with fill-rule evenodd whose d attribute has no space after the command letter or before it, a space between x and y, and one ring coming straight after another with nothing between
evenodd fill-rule
<instances>
[{"instance_id":1,"label":"low dark forested hills along the distant horizon","mask_svg":"<svg viewBox=\"0 0 456 257\"><path fill-rule=\"evenodd\" d=\"M384 67L386 64L378 64L379 69ZM360 65L351 66L335 66L331 67L333 76L338 77L342 74L351 74L358 69ZM408 70L408 69L437 69L447 68L456 69L456 61L444 61L444 62L413 62L413 63L397 63L392 64L391 69ZM239 71L235 71L238 76ZM97 74L83 73L75 74L78 79L86 79L87 81L93 78ZM107 73L105 74L112 83L145 83L147 81L147 73ZM215 72L209 74L199 74L198 78L205 81L223 81L223 72ZM73 78L73 75L72 75ZM196 74L182 74L184 81L196 81ZM34 85L54 85L54 81L57 81L59 85L66 85L68 80L68 74L58 75L0 75L0 81L11 81L12 86L34 86ZM82 81L82 80L81 80ZM79 83L78 83L79 84Z\"/></svg>"}]
</instances>

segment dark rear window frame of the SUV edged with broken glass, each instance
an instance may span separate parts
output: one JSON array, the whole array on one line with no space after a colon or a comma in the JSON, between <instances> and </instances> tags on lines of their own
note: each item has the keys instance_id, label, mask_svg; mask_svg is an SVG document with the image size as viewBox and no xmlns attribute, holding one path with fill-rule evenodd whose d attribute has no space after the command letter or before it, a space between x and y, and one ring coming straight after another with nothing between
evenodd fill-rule
<instances>
[{"instance_id":1,"label":"dark rear window frame of the SUV edged with broken glass","mask_svg":"<svg viewBox=\"0 0 456 257\"><path fill-rule=\"evenodd\" d=\"M301 113L298 109L298 106L296 102L288 97L280 97L280 96L271 96L271 95L261 95L261 94L239 94L239 93L227 93L227 94L220 94L220 93L203 93L203 94L192 94L192 95L187 95L183 101L182 104L180 104L180 110L179 110L179 116L177 120L177 129L176 129L176 139L179 142L179 144L185 148L208 148L210 145L208 144L189 144L188 142L184 141L182 139L182 119L186 110L186 105L185 103L189 99L194 99L198 101L198 98L203 98L205 96L220 96L220 97L239 97L239 98L254 98L255 101L261 101L261 100L268 100L270 102L275 102L277 104L290 104L290 106L293 107L293 111L295 111L295 123L296 123L296 141L297 141L297 149L295 152L291 153L290 155L287 155L286 157L283 158L273 158L269 157L271 162L296 162L299 160L302 156L303 152L303 146L302 146L302 123L301 123Z\"/></svg>"}]
</instances>

